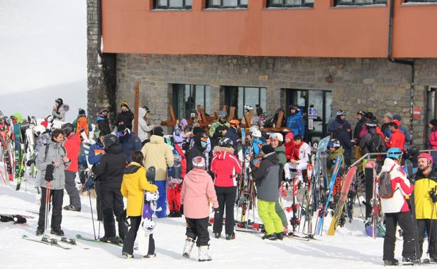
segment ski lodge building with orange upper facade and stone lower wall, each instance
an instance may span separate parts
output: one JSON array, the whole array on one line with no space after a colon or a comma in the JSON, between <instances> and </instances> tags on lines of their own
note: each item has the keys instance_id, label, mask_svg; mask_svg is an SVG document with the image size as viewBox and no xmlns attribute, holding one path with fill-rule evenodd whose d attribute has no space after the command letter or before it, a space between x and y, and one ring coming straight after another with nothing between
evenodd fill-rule
<instances>
[{"instance_id":1,"label":"ski lodge building with orange upper facade and stone lower wall","mask_svg":"<svg viewBox=\"0 0 437 269\"><path fill-rule=\"evenodd\" d=\"M297 104L306 139L339 109L399 114L423 145L437 117L437 0L87 0L88 112L139 105L152 122L197 105ZM315 111L315 114L314 114ZM94 120L94 119L93 119Z\"/></svg>"}]
</instances>

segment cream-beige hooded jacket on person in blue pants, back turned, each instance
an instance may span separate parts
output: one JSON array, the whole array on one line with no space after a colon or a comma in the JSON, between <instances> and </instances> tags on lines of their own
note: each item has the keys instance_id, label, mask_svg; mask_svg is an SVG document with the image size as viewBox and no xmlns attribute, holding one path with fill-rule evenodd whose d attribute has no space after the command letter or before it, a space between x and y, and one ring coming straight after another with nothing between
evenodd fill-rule
<instances>
[{"instance_id":1,"label":"cream-beige hooded jacket on person in blue pants, back turned","mask_svg":"<svg viewBox=\"0 0 437 269\"><path fill-rule=\"evenodd\" d=\"M172 147L165 143L162 136L151 136L149 143L141 149L144 155L144 167L155 166L155 181L167 180L167 168L172 167L174 156Z\"/></svg>"}]
</instances>

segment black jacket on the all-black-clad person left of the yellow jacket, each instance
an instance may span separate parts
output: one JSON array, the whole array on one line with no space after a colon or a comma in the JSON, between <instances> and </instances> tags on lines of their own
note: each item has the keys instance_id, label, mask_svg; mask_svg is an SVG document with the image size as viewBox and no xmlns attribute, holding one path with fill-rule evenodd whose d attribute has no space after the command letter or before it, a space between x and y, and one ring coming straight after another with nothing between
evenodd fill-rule
<instances>
[{"instance_id":1,"label":"black jacket on the all-black-clad person left of the yellow jacket","mask_svg":"<svg viewBox=\"0 0 437 269\"><path fill-rule=\"evenodd\" d=\"M123 147L121 145L113 145L109 149L105 149L105 152L92 171L99 177L102 187L120 188L127 163Z\"/></svg>"}]
</instances>

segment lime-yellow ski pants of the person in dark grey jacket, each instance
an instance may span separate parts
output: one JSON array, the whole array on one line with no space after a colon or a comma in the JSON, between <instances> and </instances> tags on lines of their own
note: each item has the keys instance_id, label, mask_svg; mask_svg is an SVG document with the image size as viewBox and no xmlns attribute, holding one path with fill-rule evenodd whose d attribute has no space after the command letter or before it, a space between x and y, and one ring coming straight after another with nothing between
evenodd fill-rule
<instances>
[{"instance_id":1,"label":"lime-yellow ski pants of the person in dark grey jacket","mask_svg":"<svg viewBox=\"0 0 437 269\"><path fill-rule=\"evenodd\" d=\"M271 235L284 232L281 218L275 212L275 202L258 199L258 216L263 221L265 234Z\"/></svg>"}]
</instances>

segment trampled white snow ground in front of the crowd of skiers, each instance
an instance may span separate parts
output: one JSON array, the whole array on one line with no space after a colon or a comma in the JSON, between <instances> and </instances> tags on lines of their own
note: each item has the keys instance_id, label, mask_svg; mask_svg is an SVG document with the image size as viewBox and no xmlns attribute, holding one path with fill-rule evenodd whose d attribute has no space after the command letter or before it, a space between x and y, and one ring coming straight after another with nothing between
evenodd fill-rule
<instances>
[{"instance_id":1,"label":"trampled white snow ground in front of the crowd of skiers","mask_svg":"<svg viewBox=\"0 0 437 269\"><path fill-rule=\"evenodd\" d=\"M2 168L0 166L0 168ZM2 170L3 171L3 170ZM27 187L27 190L26 190ZM92 219L88 197L81 196L82 212L63 211L62 229L68 238L81 234L92 238ZM69 203L67 193L64 205ZM95 208L95 200L92 199ZM382 266L382 238L373 240L363 232L363 222L355 219L344 228L338 228L335 236L319 236L310 242L295 238L283 241L261 240L255 233L237 232L235 240L215 239L211 235L211 255L207 263L197 262L197 249L190 259L181 255L185 240L183 218L155 219L154 238L157 256L140 259L134 251L133 260L121 258L121 248L113 245L83 242L81 249L65 250L38 242L22 239L22 235L36 238L39 195L31 184L22 184L15 191L15 182L1 182L0 212L32 215L27 224L0 223L0 268L379 268ZM330 219L326 219L328 228ZM95 221L98 226L98 222ZM103 229L103 227L102 227ZM211 228L209 232L212 233ZM102 230L101 230L102 234ZM326 230L324 231L326 234ZM401 258L402 241L398 241L396 257Z\"/></svg>"}]
</instances>

